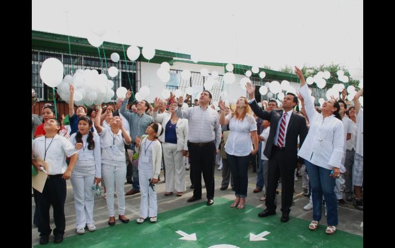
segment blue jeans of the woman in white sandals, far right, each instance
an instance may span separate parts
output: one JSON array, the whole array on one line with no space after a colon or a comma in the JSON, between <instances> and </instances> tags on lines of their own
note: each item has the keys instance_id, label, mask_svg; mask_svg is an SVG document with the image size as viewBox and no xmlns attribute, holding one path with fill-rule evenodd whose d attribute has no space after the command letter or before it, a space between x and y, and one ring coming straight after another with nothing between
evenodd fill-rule
<instances>
[{"instance_id":1,"label":"blue jeans of the woman in white sandals, far right","mask_svg":"<svg viewBox=\"0 0 395 248\"><path fill-rule=\"evenodd\" d=\"M335 179L330 176L329 169L305 161L313 201L313 220L320 221L322 217L322 196L325 197L328 226L338 226L338 200L334 193Z\"/></svg>"}]
</instances>

